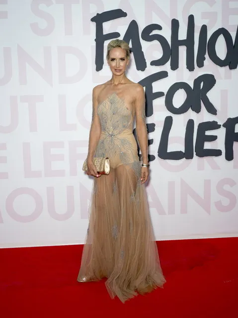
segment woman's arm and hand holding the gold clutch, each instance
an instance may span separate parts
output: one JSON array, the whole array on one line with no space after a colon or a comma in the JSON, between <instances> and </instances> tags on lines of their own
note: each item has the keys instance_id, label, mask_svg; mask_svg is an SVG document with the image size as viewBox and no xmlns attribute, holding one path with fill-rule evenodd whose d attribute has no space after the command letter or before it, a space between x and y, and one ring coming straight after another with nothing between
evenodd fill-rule
<instances>
[{"instance_id":1,"label":"woman's arm and hand holding the gold clutch","mask_svg":"<svg viewBox=\"0 0 238 318\"><path fill-rule=\"evenodd\" d=\"M98 140L101 134L101 124L97 115L98 91L99 91L98 86L94 87L92 90L92 122L91 122L91 128L89 133L88 154L87 154L87 168L88 168L87 173L94 177L98 177L99 175L96 171L95 166L92 163L92 158L95 154Z\"/></svg>"}]
</instances>

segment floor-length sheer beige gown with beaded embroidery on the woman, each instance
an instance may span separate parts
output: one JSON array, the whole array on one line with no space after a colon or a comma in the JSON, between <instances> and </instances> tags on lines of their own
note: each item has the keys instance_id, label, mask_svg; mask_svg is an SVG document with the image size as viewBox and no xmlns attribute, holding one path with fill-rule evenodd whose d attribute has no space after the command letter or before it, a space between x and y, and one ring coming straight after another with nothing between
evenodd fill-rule
<instances>
[{"instance_id":1,"label":"floor-length sheer beige gown with beaded embroidery on the woman","mask_svg":"<svg viewBox=\"0 0 238 318\"><path fill-rule=\"evenodd\" d=\"M111 298L125 302L137 293L162 287L165 279L140 180L135 113L114 93L98 105L97 115L101 136L95 157L110 158L110 173L93 181L78 281L106 277ZM142 116L145 119L145 106Z\"/></svg>"}]
</instances>

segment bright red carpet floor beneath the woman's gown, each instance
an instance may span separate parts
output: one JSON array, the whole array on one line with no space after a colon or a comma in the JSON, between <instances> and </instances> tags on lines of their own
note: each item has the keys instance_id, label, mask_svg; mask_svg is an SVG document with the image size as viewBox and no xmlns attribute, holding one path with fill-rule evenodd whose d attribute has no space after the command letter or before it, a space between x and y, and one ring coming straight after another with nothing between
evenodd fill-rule
<instances>
[{"instance_id":1,"label":"bright red carpet floor beneath the woman's gown","mask_svg":"<svg viewBox=\"0 0 238 318\"><path fill-rule=\"evenodd\" d=\"M164 288L125 304L104 281L76 281L82 245L0 249L0 317L238 317L238 238L158 247Z\"/></svg>"}]
</instances>

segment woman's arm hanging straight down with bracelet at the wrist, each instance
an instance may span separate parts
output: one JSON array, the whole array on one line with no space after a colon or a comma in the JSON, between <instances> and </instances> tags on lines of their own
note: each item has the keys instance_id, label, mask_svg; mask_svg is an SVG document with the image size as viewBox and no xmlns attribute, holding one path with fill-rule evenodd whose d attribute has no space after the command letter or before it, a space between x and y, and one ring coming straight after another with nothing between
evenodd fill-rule
<instances>
[{"instance_id":1,"label":"woman's arm hanging straight down with bracelet at the wrist","mask_svg":"<svg viewBox=\"0 0 238 318\"><path fill-rule=\"evenodd\" d=\"M141 148L142 161L148 164L148 132L146 126L145 93L141 85L138 85L136 92L135 111L136 111L136 133ZM149 177L149 168L142 167L141 181L145 183Z\"/></svg>"}]
</instances>

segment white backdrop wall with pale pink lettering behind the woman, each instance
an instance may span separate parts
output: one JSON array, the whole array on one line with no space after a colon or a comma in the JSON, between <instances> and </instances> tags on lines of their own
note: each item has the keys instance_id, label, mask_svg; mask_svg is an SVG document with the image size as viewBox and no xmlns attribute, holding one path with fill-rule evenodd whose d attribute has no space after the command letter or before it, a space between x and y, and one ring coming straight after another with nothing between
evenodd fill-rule
<instances>
[{"instance_id":1,"label":"white backdrop wall with pale pink lettering behind the woman","mask_svg":"<svg viewBox=\"0 0 238 318\"><path fill-rule=\"evenodd\" d=\"M153 90L166 94L179 81L193 85L199 75L213 74L216 85L208 93L217 108L209 114L202 104L197 114L188 111L173 117L168 150L184 150L187 120L216 120L223 124L238 116L237 69L219 67L206 54L205 65L189 72L186 50L179 48L179 68L170 62L151 66L161 56L157 41L141 38L145 26L158 23L170 43L171 19L179 20L179 38L186 37L189 14L195 18L195 61L202 24L212 33L226 28L235 41L238 1L233 0L0 0L0 246L36 246L83 243L91 180L81 171L87 153L93 86L110 79L105 63L95 70L95 23L103 11L122 9L127 16L103 23L103 32L119 32L123 38L129 23L139 25L147 61L145 71L132 63L128 77L139 82L159 71L168 77ZM104 53L108 41L105 41ZM130 43L131 44L131 43ZM224 38L216 50L226 55ZM105 54L104 54L105 56ZM182 90L174 105L183 103ZM156 238L182 239L238 235L238 145L234 160L225 159L225 128L208 132L217 140L205 148L222 150L219 157L162 160L158 147L164 118L170 115L164 96L154 101L147 118L156 129L150 154L151 182L147 187ZM237 125L238 126L238 125ZM238 127L236 128L238 131Z\"/></svg>"}]
</instances>

